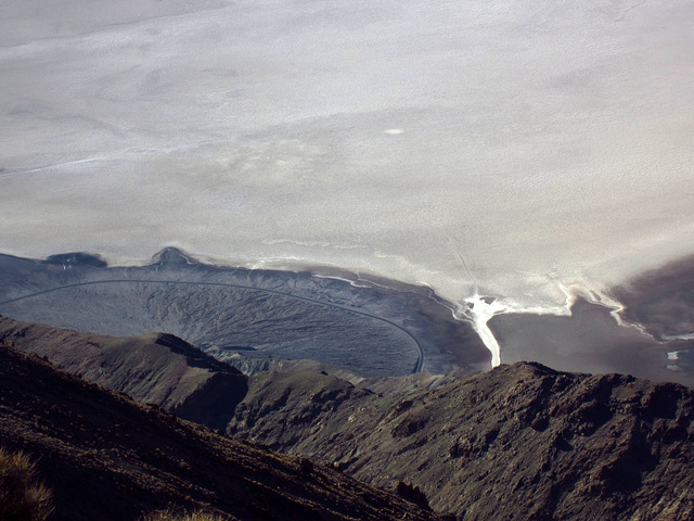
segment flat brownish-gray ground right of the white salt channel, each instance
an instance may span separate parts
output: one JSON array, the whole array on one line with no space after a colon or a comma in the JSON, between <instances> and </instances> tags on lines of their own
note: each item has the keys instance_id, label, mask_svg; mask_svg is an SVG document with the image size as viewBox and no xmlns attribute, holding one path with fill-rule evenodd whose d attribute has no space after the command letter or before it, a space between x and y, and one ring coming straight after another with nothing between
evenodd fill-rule
<instances>
[{"instance_id":1,"label":"flat brownish-gray ground right of the white salt channel","mask_svg":"<svg viewBox=\"0 0 694 521\"><path fill-rule=\"evenodd\" d=\"M609 289L620 306L577 298L567 316L507 313L487 326L506 364L620 372L694 386L694 257Z\"/></svg>"}]
</instances>

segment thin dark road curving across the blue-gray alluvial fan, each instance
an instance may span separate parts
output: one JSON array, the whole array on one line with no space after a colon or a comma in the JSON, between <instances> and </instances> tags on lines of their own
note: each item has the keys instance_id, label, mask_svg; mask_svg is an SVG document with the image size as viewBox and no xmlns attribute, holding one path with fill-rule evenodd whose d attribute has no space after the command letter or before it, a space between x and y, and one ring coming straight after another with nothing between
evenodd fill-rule
<instances>
[{"instance_id":1,"label":"thin dark road curving across the blue-gray alluvial fan","mask_svg":"<svg viewBox=\"0 0 694 521\"><path fill-rule=\"evenodd\" d=\"M399 329L400 331L402 331L404 334L407 334L414 342L414 345L415 345L415 347L417 350L419 356L417 356L417 360L416 360L416 364L414 365L414 369L413 369L412 372L413 373L414 372L421 372L422 368L424 367L424 347L422 347L422 344L420 343L420 341L411 332L409 332L407 329L404 329L402 326L399 326L399 325L395 323L394 321L388 320L387 318L378 317L376 315L371 315L371 314L365 313L365 312L360 312L360 310L357 310L357 309L355 309L352 307L343 306L340 304L333 304L333 303L322 302L322 301L318 301L316 298L310 298L308 296L293 295L292 293L285 293L283 291L278 291L278 290L268 290L268 289L265 289L265 288L255 288L253 285L230 284L230 283L227 283L227 282L192 282L192 281L189 282L189 281L171 281L171 280L154 280L154 279L94 280L94 281L90 281L90 282L77 282L75 284L59 285L56 288L51 288L51 289L48 289L48 290L42 290L42 291L38 291L36 293L31 293L30 295L24 295L24 296L18 296L16 298L10 298L9 301L0 302L0 306L3 305L3 304L11 304L13 302L23 301L25 298L31 298L34 296L42 295L44 293L51 293L53 291L66 290L68 288L78 288L80 285L113 284L113 283L137 283L137 282L146 282L146 283L153 283L153 284L219 285L219 287L226 287L226 288L237 288L237 289L242 289L242 290L259 291L259 292L262 292L262 293L270 293L270 294L274 294L274 295L286 296L288 298L296 298L297 301L308 302L310 304L314 304L314 305L318 305L318 306L334 307L334 308L342 309L342 310L347 312L347 313L354 313L355 315L361 315L362 317L368 317L368 318L371 318L373 320L381 320L382 322L385 322L385 323L387 323L389 326L393 326L394 328Z\"/></svg>"}]
</instances>

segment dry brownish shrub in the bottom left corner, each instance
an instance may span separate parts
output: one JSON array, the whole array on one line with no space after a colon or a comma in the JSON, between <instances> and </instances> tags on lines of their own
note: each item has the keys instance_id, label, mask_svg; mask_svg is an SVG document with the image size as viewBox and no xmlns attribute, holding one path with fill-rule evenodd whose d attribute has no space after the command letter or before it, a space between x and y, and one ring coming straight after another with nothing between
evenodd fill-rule
<instances>
[{"instance_id":1,"label":"dry brownish shrub in the bottom left corner","mask_svg":"<svg viewBox=\"0 0 694 521\"><path fill-rule=\"evenodd\" d=\"M22 452L0 447L0 519L43 521L53 511L51 491L35 463Z\"/></svg>"}]
</instances>

